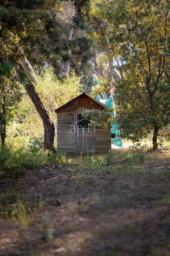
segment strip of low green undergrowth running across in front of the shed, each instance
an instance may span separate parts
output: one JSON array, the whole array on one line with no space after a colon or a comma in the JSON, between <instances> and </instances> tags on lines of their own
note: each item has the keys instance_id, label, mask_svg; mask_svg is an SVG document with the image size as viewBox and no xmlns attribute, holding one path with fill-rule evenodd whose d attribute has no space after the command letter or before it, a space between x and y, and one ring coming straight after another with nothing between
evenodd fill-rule
<instances>
[{"instance_id":1,"label":"strip of low green undergrowth running across in front of the shed","mask_svg":"<svg viewBox=\"0 0 170 256\"><path fill-rule=\"evenodd\" d=\"M168 153L166 153L167 155ZM168 155L166 156L168 157ZM0 178L4 175L22 176L26 169L38 170L57 163L69 165L77 174L96 174L117 172L133 175L151 171L152 165L161 158L161 152L132 149L112 149L106 154L68 156L59 150L49 152L40 149L32 152L30 148L0 148Z\"/></svg>"}]
</instances>

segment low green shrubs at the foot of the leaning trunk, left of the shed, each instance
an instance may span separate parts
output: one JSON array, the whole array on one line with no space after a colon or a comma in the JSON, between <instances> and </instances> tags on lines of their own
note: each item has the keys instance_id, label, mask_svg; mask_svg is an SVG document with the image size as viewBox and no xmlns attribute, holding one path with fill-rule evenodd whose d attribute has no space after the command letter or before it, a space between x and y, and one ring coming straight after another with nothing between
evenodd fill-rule
<instances>
[{"instance_id":1,"label":"low green shrubs at the foot of the leaning trunk, left of the shed","mask_svg":"<svg viewBox=\"0 0 170 256\"><path fill-rule=\"evenodd\" d=\"M42 166L49 166L56 163L67 164L69 159L60 151L49 152L40 149L39 151L30 148L0 148L0 177L5 173L10 175L23 175L26 169L38 169Z\"/></svg>"}]
</instances>

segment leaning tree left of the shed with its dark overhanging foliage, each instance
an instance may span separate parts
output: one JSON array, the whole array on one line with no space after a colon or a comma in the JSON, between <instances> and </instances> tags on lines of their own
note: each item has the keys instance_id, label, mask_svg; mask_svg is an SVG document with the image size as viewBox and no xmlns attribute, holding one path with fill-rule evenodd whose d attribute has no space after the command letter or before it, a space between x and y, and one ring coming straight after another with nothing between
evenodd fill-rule
<instances>
[{"instance_id":1,"label":"leaning tree left of the shed with its dark overhanging foliage","mask_svg":"<svg viewBox=\"0 0 170 256\"><path fill-rule=\"evenodd\" d=\"M88 3L89 1L29 1L21 4L20 1L15 0L4 1L0 6L1 75L3 70L9 73L11 67L16 67L18 70L18 79L25 86L39 114L40 122L43 123L44 147L50 150L54 150L55 129L51 121L54 116L50 117L36 91L39 88L39 81L34 74L34 68L37 65L40 71L46 66L53 65L57 76L63 78L71 51L74 68L82 76L83 67L86 66L90 56L90 41L92 41L85 37L86 29L90 33L84 18L88 15L86 8ZM67 15L73 6L76 14ZM79 30L72 41L68 36L70 23L74 23L74 27ZM72 97L74 93L70 94L69 97ZM55 100L58 99L55 97ZM61 102L59 100L56 104L60 105ZM24 112L28 112L27 109ZM2 118L3 122L6 121L5 114Z\"/></svg>"}]
</instances>

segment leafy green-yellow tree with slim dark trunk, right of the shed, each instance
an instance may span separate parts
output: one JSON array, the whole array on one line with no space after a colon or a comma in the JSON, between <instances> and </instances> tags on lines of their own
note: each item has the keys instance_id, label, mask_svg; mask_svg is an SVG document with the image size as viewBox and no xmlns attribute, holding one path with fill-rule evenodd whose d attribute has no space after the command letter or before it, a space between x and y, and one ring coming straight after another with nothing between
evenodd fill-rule
<instances>
[{"instance_id":1,"label":"leafy green-yellow tree with slim dark trunk, right of the shed","mask_svg":"<svg viewBox=\"0 0 170 256\"><path fill-rule=\"evenodd\" d=\"M115 83L116 118L122 137L140 141L153 131L153 148L157 149L161 131L169 135L170 3L106 0L95 4L95 15L108 26L107 58L124 58L114 67L124 72Z\"/></svg>"}]
</instances>

